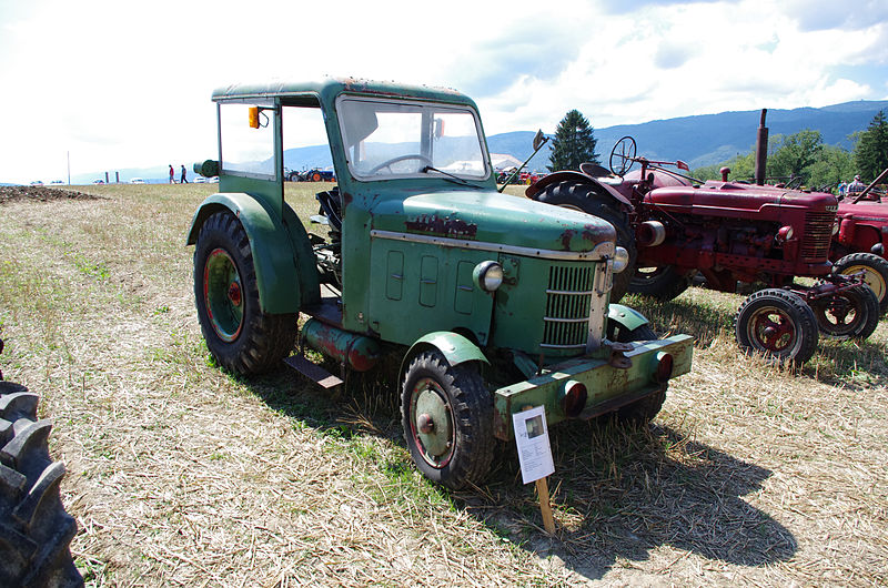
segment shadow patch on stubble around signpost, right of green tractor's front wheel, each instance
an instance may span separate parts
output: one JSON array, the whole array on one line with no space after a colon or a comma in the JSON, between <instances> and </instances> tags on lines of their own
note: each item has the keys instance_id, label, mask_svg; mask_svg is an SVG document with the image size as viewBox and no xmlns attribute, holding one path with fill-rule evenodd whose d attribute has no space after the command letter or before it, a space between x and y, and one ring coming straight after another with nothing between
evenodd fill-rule
<instances>
[{"instance_id":1,"label":"shadow patch on stubble around signpost, right of green tractor's front wheel","mask_svg":"<svg viewBox=\"0 0 888 588\"><path fill-rule=\"evenodd\" d=\"M542 533L533 486L514 475L514 449L485 491L460 498L500 535L589 579L660 545L740 566L786 561L797 549L788 529L741 498L769 470L676 430L569 423L553 428L552 445L556 538Z\"/></svg>"}]
</instances>

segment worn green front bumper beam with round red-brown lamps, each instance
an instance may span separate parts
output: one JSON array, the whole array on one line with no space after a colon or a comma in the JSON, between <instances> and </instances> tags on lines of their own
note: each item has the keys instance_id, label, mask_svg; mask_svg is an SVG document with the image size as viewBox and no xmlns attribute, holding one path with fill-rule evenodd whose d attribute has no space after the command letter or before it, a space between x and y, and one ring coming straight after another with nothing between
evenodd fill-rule
<instances>
[{"instance_id":1,"label":"worn green front bumper beam with round red-brown lamps","mask_svg":"<svg viewBox=\"0 0 888 588\"><path fill-rule=\"evenodd\" d=\"M544 406L546 423L552 425L568 416L564 406L565 388L578 382L586 386L586 404L575 418L593 418L616 410L649 394L665 389L668 382L657 382L662 354L673 359L672 377L690 372L694 339L689 335L630 344L623 352L628 362L579 357L547 366L538 376L494 392L494 435L513 438L512 415L528 407ZM615 366L615 364L623 364ZM628 364L628 366L626 366Z\"/></svg>"}]
</instances>

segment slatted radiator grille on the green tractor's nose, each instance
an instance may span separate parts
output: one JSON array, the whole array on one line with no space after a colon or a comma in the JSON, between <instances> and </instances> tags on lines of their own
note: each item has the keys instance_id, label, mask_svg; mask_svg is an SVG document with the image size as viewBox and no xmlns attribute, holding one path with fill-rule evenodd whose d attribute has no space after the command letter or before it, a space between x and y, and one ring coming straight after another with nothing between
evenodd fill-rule
<instances>
[{"instance_id":1,"label":"slatted radiator grille on the green tractor's nose","mask_svg":"<svg viewBox=\"0 0 888 588\"><path fill-rule=\"evenodd\" d=\"M575 349L586 346L596 265L549 267L541 347Z\"/></svg>"}]
</instances>

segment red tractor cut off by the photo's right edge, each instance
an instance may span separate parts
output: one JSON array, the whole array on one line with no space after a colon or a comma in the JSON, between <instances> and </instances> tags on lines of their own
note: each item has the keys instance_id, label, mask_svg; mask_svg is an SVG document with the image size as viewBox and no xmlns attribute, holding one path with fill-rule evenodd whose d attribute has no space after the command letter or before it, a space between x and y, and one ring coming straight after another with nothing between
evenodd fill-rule
<instances>
[{"instance_id":1,"label":"red tractor cut off by the photo's right edge","mask_svg":"<svg viewBox=\"0 0 888 588\"><path fill-rule=\"evenodd\" d=\"M888 169L860 194L839 201L839 231L829 254L837 273L862 273L879 298L882 314L888 310L888 202L875 186L886 175Z\"/></svg>"}]
</instances>

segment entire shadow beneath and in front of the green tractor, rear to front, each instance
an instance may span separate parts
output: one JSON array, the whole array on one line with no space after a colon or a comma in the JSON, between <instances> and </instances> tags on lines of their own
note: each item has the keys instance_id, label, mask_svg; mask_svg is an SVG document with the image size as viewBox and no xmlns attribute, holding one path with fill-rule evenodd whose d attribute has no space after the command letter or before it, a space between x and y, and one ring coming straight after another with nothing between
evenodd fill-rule
<instances>
[{"instance_id":1,"label":"entire shadow beneath and in front of the green tractor, rear to front","mask_svg":"<svg viewBox=\"0 0 888 588\"><path fill-rule=\"evenodd\" d=\"M351 384L335 398L289 371L248 385L270 407L320 434L376 436L403 448L397 398L391 392L396 385ZM785 561L797 549L789 530L743 499L760 489L770 472L680 432L602 419L571 422L553 427L552 446L555 539L542 530L533 485L522 485L512 444L498 444L486 485L471 491L418 479L405 449L385 462L367 459L366 467L387 479L385 500L450 504L495 535L538 557L557 556L591 579L602 578L622 559L647 560L660 545L741 566Z\"/></svg>"}]
</instances>

